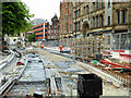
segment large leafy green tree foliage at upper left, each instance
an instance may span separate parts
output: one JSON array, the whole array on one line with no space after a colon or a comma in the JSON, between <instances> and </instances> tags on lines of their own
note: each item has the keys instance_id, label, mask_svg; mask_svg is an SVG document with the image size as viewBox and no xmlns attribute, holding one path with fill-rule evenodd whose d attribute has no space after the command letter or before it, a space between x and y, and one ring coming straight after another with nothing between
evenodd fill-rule
<instances>
[{"instance_id":1,"label":"large leafy green tree foliage at upper left","mask_svg":"<svg viewBox=\"0 0 131 98\"><path fill-rule=\"evenodd\" d=\"M26 32L32 24L28 22L29 10L23 2L2 2L2 34L15 35Z\"/></svg>"}]
</instances>

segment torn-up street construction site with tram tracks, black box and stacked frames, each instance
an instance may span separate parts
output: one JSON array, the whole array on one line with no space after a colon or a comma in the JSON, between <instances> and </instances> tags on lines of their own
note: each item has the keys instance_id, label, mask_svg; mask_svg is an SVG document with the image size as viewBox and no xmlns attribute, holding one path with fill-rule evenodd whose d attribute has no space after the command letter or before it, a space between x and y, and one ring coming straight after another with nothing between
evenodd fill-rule
<instances>
[{"instance_id":1,"label":"torn-up street construction site with tram tracks, black box and stacked frames","mask_svg":"<svg viewBox=\"0 0 131 98\"><path fill-rule=\"evenodd\" d=\"M97 36L73 40L70 53L40 45L10 49L9 61L0 68L0 97L129 98L131 63L105 52L104 38L108 39Z\"/></svg>"}]
</instances>

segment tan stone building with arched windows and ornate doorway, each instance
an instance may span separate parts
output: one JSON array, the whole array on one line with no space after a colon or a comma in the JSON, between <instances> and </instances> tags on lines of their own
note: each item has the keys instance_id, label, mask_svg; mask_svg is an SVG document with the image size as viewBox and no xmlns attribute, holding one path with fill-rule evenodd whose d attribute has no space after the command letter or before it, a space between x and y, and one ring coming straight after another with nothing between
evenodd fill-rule
<instances>
[{"instance_id":1,"label":"tan stone building with arched windows and ornate doorway","mask_svg":"<svg viewBox=\"0 0 131 98\"><path fill-rule=\"evenodd\" d=\"M108 49L126 49L131 42L131 2L92 0L73 2L73 37L103 35ZM130 47L127 48L130 48Z\"/></svg>"}]
</instances>

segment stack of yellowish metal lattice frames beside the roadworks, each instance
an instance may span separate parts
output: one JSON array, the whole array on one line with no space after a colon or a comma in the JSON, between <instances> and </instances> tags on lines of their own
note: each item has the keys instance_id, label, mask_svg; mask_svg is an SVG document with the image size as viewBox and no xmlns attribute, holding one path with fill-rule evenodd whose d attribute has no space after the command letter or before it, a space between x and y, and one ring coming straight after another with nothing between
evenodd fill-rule
<instances>
[{"instance_id":1,"label":"stack of yellowish metal lattice frames beside the roadworks","mask_svg":"<svg viewBox=\"0 0 131 98\"><path fill-rule=\"evenodd\" d=\"M106 39L104 36L93 36L75 39L73 42L73 51L75 59L82 60L96 59L96 54L102 54L106 48Z\"/></svg>"}]
</instances>

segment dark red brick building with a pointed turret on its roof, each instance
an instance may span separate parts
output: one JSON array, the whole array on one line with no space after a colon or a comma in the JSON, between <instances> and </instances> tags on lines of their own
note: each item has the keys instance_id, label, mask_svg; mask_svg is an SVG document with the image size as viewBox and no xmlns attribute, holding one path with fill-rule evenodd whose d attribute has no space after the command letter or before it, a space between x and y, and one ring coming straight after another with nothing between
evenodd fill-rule
<instances>
[{"instance_id":1,"label":"dark red brick building with a pointed turret on its roof","mask_svg":"<svg viewBox=\"0 0 131 98\"><path fill-rule=\"evenodd\" d=\"M59 36L59 20L58 16L55 15L51 19L52 25L49 25L49 30L48 30L48 40L59 40L60 36Z\"/></svg>"}]
</instances>

